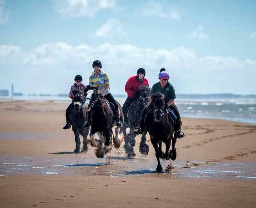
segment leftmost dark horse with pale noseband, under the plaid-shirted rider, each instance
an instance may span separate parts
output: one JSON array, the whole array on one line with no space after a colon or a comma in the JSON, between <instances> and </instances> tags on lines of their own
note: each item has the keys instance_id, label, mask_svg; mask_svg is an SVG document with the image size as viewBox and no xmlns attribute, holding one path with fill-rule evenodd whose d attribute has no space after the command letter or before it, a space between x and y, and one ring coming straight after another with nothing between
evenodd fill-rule
<instances>
[{"instance_id":1,"label":"leftmost dark horse with pale noseband, under the plaid-shirted rider","mask_svg":"<svg viewBox=\"0 0 256 208\"><path fill-rule=\"evenodd\" d=\"M81 107L84 104L82 94L79 90L73 90L73 105L74 108L70 112L70 121L72 125L72 130L75 135L76 149L74 153L80 153L80 138L79 135L82 135L84 138L84 145L81 152L87 152L88 147L86 144L87 135L89 133L89 128L84 128L84 123L87 121L87 112Z\"/></svg>"}]
</instances>

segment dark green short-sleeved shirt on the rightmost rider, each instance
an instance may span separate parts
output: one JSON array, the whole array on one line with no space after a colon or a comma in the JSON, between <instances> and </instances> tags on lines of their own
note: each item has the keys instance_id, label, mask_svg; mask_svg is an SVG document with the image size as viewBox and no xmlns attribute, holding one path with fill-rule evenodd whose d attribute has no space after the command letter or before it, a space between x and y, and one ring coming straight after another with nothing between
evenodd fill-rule
<instances>
[{"instance_id":1,"label":"dark green short-sleeved shirt on the rightmost rider","mask_svg":"<svg viewBox=\"0 0 256 208\"><path fill-rule=\"evenodd\" d=\"M166 83L164 89L160 86L160 82L156 82L156 84L154 84L150 90L150 96L155 92L161 92L164 94L165 103L168 103L169 100L176 98L174 87L170 82Z\"/></svg>"}]
</instances>

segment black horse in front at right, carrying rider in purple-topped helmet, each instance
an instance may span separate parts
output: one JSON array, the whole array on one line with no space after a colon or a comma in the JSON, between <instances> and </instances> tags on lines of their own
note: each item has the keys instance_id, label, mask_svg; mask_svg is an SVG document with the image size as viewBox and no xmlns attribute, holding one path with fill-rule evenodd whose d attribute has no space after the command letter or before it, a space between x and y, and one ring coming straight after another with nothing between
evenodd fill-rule
<instances>
[{"instance_id":1,"label":"black horse in front at right, carrying rider in purple-topped helmet","mask_svg":"<svg viewBox=\"0 0 256 208\"><path fill-rule=\"evenodd\" d=\"M163 172L160 158L175 160L177 155L175 149L177 135L174 133L174 122L168 116L164 105L164 95L160 92L153 93L147 106L147 109L152 110L152 113L148 113L146 116L150 141L156 151L156 172L158 173ZM165 153L162 151L162 142L166 145ZM172 150L169 151L171 142Z\"/></svg>"}]
</instances>

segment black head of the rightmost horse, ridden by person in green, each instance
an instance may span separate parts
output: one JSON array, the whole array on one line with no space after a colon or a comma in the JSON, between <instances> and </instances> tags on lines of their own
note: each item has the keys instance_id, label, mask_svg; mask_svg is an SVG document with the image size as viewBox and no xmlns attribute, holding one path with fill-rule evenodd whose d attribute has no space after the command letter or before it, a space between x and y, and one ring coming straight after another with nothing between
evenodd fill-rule
<instances>
[{"instance_id":1,"label":"black head of the rightmost horse, ridden by person in green","mask_svg":"<svg viewBox=\"0 0 256 208\"><path fill-rule=\"evenodd\" d=\"M160 92L155 92L151 96L151 105L154 112L155 122L160 122L164 114L164 95Z\"/></svg>"}]
</instances>

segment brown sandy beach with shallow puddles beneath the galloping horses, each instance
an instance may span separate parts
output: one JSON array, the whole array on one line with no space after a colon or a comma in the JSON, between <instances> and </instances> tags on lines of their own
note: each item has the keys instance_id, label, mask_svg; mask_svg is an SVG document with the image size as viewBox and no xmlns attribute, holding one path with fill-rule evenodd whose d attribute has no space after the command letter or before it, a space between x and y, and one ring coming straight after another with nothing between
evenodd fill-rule
<instances>
[{"instance_id":1,"label":"brown sandy beach with shallow puddles beneath the galloping horses","mask_svg":"<svg viewBox=\"0 0 256 208\"><path fill-rule=\"evenodd\" d=\"M139 136L130 159L124 142L103 159L74 154L68 104L0 102L1 207L256 206L256 126L183 118L174 169L159 174L148 136L148 155Z\"/></svg>"}]
</instances>

